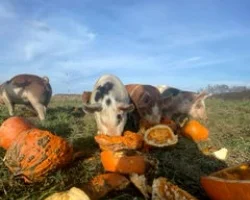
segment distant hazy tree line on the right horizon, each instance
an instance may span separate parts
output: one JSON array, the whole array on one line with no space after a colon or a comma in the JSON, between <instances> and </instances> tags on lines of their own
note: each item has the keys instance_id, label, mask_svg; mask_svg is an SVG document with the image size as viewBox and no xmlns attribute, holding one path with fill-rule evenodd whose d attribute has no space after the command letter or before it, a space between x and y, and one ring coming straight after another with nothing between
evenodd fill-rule
<instances>
[{"instance_id":1,"label":"distant hazy tree line on the right horizon","mask_svg":"<svg viewBox=\"0 0 250 200\"><path fill-rule=\"evenodd\" d=\"M222 94L222 93L229 93L229 92L243 92L250 90L247 86L228 86L226 84L216 84L216 85L208 85L205 88L199 89L199 91L206 91L212 94Z\"/></svg>"}]
</instances>

